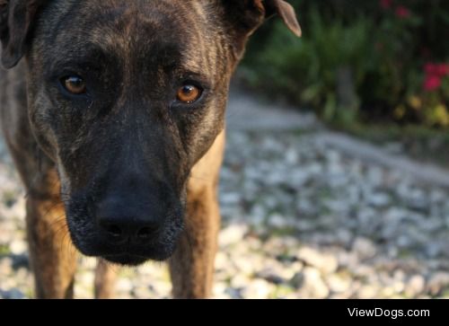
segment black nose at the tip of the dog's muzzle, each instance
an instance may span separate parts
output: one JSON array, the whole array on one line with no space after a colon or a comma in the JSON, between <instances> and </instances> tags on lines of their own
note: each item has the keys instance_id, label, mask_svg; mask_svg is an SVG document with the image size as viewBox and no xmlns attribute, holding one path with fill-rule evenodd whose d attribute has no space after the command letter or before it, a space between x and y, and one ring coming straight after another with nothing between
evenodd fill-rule
<instances>
[{"instance_id":1,"label":"black nose at the tip of the dog's muzzle","mask_svg":"<svg viewBox=\"0 0 449 326\"><path fill-rule=\"evenodd\" d=\"M147 242L159 225L133 217L100 216L99 225L111 242Z\"/></svg>"}]
</instances>

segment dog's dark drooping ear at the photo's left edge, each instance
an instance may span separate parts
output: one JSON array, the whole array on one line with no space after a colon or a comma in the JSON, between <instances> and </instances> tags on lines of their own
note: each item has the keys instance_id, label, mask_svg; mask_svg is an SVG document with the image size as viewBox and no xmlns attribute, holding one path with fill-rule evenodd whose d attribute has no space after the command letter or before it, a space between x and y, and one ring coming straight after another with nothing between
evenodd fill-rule
<instances>
[{"instance_id":1,"label":"dog's dark drooping ear at the photo's left edge","mask_svg":"<svg viewBox=\"0 0 449 326\"><path fill-rule=\"evenodd\" d=\"M0 0L2 65L17 65L27 50L36 14L47 0Z\"/></svg>"}]
</instances>

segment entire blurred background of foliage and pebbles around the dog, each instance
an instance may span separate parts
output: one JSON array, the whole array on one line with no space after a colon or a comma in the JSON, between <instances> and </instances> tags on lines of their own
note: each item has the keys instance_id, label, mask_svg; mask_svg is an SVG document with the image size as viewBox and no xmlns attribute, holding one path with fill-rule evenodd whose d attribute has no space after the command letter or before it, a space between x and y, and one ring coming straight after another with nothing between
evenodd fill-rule
<instances>
[{"instance_id":1,"label":"entire blurred background of foliage and pebbles around the dog","mask_svg":"<svg viewBox=\"0 0 449 326\"><path fill-rule=\"evenodd\" d=\"M290 0L228 110L217 298L449 298L449 1ZM32 295L23 190L0 145L0 298ZM92 297L80 258L77 297ZM168 297L163 265L113 268Z\"/></svg>"}]
</instances>

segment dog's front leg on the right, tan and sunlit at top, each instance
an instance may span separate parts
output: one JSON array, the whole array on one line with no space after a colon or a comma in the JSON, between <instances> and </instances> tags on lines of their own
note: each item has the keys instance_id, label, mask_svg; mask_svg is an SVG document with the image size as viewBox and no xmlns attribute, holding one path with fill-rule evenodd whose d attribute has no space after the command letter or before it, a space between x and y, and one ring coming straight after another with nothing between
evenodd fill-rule
<instances>
[{"instance_id":1,"label":"dog's front leg on the right, tan and sunlit at top","mask_svg":"<svg viewBox=\"0 0 449 326\"><path fill-rule=\"evenodd\" d=\"M207 298L212 294L220 213L216 198L225 132L192 170L185 232L170 260L173 296Z\"/></svg>"}]
</instances>

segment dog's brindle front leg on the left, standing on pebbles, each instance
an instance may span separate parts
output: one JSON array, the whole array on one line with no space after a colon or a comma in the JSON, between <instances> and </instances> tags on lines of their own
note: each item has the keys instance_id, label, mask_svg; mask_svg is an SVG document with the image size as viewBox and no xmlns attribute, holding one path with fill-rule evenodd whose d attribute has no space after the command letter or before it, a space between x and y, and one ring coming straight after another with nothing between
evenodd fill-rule
<instances>
[{"instance_id":1,"label":"dog's brindle front leg on the left, standing on pebbles","mask_svg":"<svg viewBox=\"0 0 449 326\"><path fill-rule=\"evenodd\" d=\"M38 298L72 298L75 247L66 225L64 205L57 194L57 172L40 173L27 199L27 229L31 268ZM57 191L57 192L55 192Z\"/></svg>"}]
</instances>

